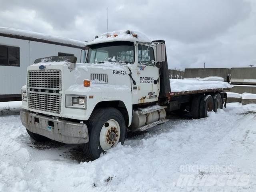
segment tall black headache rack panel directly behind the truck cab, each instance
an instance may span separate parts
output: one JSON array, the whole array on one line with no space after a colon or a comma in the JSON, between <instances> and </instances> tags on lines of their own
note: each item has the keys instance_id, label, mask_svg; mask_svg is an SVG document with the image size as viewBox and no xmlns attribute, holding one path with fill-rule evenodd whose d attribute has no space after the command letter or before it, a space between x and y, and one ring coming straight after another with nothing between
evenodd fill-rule
<instances>
[{"instance_id":1,"label":"tall black headache rack panel directly behind the truck cab","mask_svg":"<svg viewBox=\"0 0 256 192\"><path fill-rule=\"evenodd\" d=\"M164 40L155 40L154 42L161 42L165 44ZM165 49L165 61L162 62L162 67L160 68L160 93L159 98L166 98L170 97L171 94L171 86L170 86L170 78L169 78L169 72L168 72L168 62L167 62L167 56L166 56L166 49Z\"/></svg>"}]
</instances>

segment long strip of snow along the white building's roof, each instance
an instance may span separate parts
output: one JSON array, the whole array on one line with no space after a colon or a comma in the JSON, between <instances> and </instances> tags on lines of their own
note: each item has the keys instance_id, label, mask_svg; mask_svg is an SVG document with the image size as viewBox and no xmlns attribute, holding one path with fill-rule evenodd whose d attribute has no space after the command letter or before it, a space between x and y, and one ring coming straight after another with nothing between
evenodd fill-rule
<instances>
[{"instance_id":1,"label":"long strip of snow along the white building's roof","mask_svg":"<svg viewBox=\"0 0 256 192\"><path fill-rule=\"evenodd\" d=\"M80 46L80 47L83 47L84 44L86 43L86 42L82 42L82 41L78 41L78 40L74 40L74 39L62 38L62 37L58 37L58 36L52 36L52 35L48 35L48 34L42 34L42 33L7 28L7 27L0 27L0 34L8 34L8 35L15 35L15 36L20 36L20 37L35 38L38 40L46 40L46 41L69 44L69 45Z\"/></svg>"}]
</instances>

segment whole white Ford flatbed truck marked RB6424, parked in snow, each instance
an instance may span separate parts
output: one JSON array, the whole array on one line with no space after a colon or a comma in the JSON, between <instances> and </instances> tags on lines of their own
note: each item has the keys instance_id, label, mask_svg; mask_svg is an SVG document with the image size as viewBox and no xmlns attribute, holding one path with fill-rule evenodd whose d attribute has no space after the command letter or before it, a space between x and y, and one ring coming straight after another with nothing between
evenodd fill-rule
<instances>
[{"instance_id":1,"label":"whole white Ford flatbed truck marked RB6424, parked in snow","mask_svg":"<svg viewBox=\"0 0 256 192\"><path fill-rule=\"evenodd\" d=\"M225 82L190 81L187 90L186 81L168 78L163 40L127 30L96 36L86 46L86 63L48 57L28 67L20 117L34 140L82 144L94 160L123 144L127 132L167 122L166 112L186 109L204 118L225 106L224 90L231 89Z\"/></svg>"}]
</instances>

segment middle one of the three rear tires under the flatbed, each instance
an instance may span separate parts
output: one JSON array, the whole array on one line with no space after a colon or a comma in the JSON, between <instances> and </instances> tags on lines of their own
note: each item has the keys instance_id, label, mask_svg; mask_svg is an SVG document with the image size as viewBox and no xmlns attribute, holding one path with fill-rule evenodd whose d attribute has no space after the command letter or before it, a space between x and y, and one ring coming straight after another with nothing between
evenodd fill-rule
<instances>
[{"instance_id":1,"label":"middle one of the three rear tires under the flatbed","mask_svg":"<svg viewBox=\"0 0 256 192\"><path fill-rule=\"evenodd\" d=\"M205 95L200 101L200 118L208 117L208 112L213 110L213 99L211 95Z\"/></svg>"}]
</instances>

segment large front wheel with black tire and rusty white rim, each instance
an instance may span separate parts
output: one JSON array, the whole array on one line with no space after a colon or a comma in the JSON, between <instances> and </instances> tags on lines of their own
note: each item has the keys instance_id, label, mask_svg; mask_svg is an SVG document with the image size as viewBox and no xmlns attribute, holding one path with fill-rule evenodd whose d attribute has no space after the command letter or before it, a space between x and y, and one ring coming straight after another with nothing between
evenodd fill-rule
<instances>
[{"instance_id":1,"label":"large front wheel with black tire and rusty white rim","mask_svg":"<svg viewBox=\"0 0 256 192\"><path fill-rule=\"evenodd\" d=\"M89 142L83 144L84 154L95 160L121 142L124 143L126 126L122 113L116 108L98 108L86 122Z\"/></svg>"}]
</instances>

